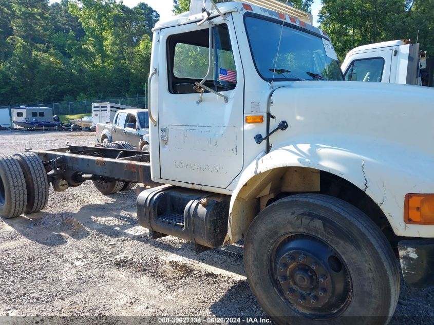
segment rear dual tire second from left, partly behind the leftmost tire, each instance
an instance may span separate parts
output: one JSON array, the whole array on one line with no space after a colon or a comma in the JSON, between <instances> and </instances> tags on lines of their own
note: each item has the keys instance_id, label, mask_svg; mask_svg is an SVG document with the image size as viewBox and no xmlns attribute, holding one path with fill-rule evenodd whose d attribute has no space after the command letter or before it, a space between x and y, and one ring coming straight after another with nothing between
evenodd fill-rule
<instances>
[{"instance_id":1,"label":"rear dual tire second from left, partly behind the leftmost tire","mask_svg":"<svg viewBox=\"0 0 434 325\"><path fill-rule=\"evenodd\" d=\"M25 213L40 212L48 202L48 180L44 165L34 152L15 154L23 170L27 187L27 204Z\"/></svg>"}]
</instances>

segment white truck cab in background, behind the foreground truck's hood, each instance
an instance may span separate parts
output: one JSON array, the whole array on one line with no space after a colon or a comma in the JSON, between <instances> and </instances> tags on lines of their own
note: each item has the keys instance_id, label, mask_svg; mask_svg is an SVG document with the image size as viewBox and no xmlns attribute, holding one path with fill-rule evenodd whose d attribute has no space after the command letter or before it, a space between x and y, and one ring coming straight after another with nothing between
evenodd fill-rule
<instances>
[{"instance_id":1,"label":"white truck cab in background, behind the foreground truck's hood","mask_svg":"<svg viewBox=\"0 0 434 325\"><path fill-rule=\"evenodd\" d=\"M434 58L419 43L396 40L358 46L341 66L347 81L382 82L433 87Z\"/></svg>"}]
</instances>

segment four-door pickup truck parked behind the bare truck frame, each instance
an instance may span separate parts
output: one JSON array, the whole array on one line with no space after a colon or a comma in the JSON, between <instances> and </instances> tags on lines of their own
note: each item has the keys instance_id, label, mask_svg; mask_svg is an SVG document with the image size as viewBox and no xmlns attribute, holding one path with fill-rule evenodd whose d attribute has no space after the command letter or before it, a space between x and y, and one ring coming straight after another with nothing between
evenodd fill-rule
<instances>
[{"instance_id":1,"label":"four-door pickup truck parked behind the bare truck frame","mask_svg":"<svg viewBox=\"0 0 434 325\"><path fill-rule=\"evenodd\" d=\"M149 149L147 109L119 110L112 123L97 124L97 142L125 141L136 150Z\"/></svg>"}]
</instances>

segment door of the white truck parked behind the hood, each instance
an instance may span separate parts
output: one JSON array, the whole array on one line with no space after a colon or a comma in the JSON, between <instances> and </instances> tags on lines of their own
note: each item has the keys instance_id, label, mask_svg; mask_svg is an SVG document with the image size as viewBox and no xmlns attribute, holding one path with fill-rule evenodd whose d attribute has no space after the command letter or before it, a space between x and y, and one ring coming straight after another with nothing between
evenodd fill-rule
<instances>
[{"instance_id":1,"label":"door of the white truck parked behind the hood","mask_svg":"<svg viewBox=\"0 0 434 325\"><path fill-rule=\"evenodd\" d=\"M345 80L389 83L392 52L389 49L352 55L351 62L344 71Z\"/></svg>"}]
</instances>

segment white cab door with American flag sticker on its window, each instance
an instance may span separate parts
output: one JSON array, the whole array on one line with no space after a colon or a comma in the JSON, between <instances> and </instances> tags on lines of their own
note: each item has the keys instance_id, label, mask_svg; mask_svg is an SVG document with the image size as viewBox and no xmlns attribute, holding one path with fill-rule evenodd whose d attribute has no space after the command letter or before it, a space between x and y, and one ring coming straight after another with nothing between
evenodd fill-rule
<instances>
[{"instance_id":1,"label":"white cab door with American flag sticker on its window","mask_svg":"<svg viewBox=\"0 0 434 325\"><path fill-rule=\"evenodd\" d=\"M161 30L158 126L161 179L227 187L243 165L243 70L232 16L212 20L210 74L201 101L195 82L207 75L209 23ZM232 26L232 29L230 28Z\"/></svg>"}]
</instances>

